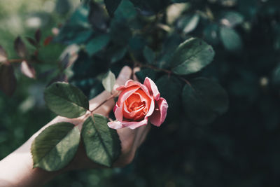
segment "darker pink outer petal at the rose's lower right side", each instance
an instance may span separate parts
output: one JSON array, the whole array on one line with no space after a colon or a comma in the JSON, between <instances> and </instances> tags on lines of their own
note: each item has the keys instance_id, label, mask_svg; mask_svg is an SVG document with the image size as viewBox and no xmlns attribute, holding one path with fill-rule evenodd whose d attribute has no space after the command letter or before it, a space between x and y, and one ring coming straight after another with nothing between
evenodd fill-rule
<instances>
[{"instance_id":1,"label":"darker pink outer petal at the rose's lower right side","mask_svg":"<svg viewBox=\"0 0 280 187\"><path fill-rule=\"evenodd\" d=\"M165 118L167 116L168 104L164 98L160 97L155 105L155 111L150 117L150 121L153 125L159 127L165 121Z\"/></svg>"}]
</instances>

